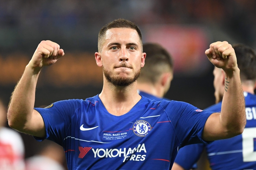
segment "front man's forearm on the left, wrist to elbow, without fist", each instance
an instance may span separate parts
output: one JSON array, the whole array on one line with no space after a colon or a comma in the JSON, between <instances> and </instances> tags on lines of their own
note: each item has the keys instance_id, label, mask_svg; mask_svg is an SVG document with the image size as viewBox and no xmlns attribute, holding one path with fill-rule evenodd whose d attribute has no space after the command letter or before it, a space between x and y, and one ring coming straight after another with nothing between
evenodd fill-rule
<instances>
[{"instance_id":1,"label":"front man's forearm on the left, wrist to elbow, without fist","mask_svg":"<svg viewBox=\"0 0 256 170\"><path fill-rule=\"evenodd\" d=\"M26 123L32 117L39 72L27 65L22 78L13 91L7 117L9 126L14 129L23 131Z\"/></svg>"}]
</instances>

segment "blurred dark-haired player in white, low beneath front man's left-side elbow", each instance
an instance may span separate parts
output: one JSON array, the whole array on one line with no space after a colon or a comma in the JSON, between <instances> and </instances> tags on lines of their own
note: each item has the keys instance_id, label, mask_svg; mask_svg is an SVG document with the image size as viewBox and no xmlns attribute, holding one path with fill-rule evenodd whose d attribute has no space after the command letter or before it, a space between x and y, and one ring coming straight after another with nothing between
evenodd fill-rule
<instances>
[{"instance_id":1,"label":"blurred dark-haired player in white, low beneath front man's left-side elbow","mask_svg":"<svg viewBox=\"0 0 256 170\"><path fill-rule=\"evenodd\" d=\"M63 148L48 141L38 155L26 160L26 170L65 170L62 166L65 160Z\"/></svg>"}]
</instances>

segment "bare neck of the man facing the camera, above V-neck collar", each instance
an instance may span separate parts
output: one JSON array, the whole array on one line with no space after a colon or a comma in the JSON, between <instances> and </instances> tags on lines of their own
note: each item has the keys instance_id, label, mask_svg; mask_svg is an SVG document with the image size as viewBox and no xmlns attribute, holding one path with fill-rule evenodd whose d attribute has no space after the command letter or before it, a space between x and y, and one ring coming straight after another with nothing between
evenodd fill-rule
<instances>
[{"instance_id":1,"label":"bare neck of the man facing the camera, above V-neck collar","mask_svg":"<svg viewBox=\"0 0 256 170\"><path fill-rule=\"evenodd\" d=\"M110 114L120 116L129 112L141 96L137 93L137 82L120 87L104 79L99 98Z\"/></svg>"}]
</instances>

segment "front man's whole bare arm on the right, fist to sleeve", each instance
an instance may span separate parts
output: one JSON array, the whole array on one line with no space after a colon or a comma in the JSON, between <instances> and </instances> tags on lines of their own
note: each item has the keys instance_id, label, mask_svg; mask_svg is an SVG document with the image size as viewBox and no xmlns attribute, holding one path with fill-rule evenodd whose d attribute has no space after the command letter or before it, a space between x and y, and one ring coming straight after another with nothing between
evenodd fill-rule
<instances>
[{"instance_id":1,"label":"front man's whole bare arm on the right, fist to sleeve","mask_svg":"<svg viewBox=\"0 0 256 170\"><path fill-rule=\"evenodd\" d=\"M215 42L205 54L212 64L225 72L225 92L221 113L213 113L205 123L202 139L213 141L240 135L246 125L240 70L234 49L228 42Z\"/></svg>"}]
</instances>

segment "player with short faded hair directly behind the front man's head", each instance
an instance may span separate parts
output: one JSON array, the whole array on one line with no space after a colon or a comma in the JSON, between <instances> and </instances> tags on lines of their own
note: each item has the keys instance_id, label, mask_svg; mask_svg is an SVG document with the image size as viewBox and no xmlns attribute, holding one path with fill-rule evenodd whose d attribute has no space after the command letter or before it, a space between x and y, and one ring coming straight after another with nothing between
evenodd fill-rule
<instances>
[{"instance_id":1,"label":"player with short faded hair directly behind the front man's head","mask_svg":"<svg viewBox=\"0 0 256 170\"><path fill-rule=\"evenodd\" d=\"M143 44L147 60L137 81L138 93L148 99L162 101L173 79L171 55L159 44Z\"/></svg>"}]
</instances>

